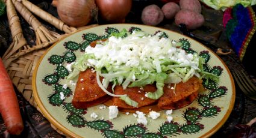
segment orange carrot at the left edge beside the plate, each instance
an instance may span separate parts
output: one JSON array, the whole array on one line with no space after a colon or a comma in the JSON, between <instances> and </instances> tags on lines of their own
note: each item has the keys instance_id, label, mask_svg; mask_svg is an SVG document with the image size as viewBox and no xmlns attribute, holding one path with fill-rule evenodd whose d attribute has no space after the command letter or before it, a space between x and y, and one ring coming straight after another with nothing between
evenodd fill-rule
<instances>
[{"instance_id":1,"label":"orange carrot at the left edge beside the plate","mask_svg":"<svg viewBox=\"0 0 256 138\"><path fill-rule=\"evenodd\" d=\"M19 104L13 83L0 58L0 113L10 134L19 135L23 130Z\"/></svg>"}]
</instances>

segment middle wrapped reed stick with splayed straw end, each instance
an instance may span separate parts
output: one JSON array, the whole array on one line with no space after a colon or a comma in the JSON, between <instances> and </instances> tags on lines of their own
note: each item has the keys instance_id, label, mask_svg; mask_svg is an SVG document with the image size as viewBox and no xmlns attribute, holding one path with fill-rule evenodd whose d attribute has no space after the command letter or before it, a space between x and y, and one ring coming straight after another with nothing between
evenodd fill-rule
<instances>
[{"instance_id":1,"label":"middle wrapped reed stick with splayed straw end","mask_svg":"<svg viewBox=\"0 0 256 138\"><path fill-rule=\"evenodd\" d=\"M56 32L49 31L36 17L33 16L32 13L20 2L16 0L12 0L13 4L17 11L22 15L22 17L30 24L34 31L36 32L36 45L43 44L55 39L58 39L61 35Z\"/></svg>"}]
</instances>

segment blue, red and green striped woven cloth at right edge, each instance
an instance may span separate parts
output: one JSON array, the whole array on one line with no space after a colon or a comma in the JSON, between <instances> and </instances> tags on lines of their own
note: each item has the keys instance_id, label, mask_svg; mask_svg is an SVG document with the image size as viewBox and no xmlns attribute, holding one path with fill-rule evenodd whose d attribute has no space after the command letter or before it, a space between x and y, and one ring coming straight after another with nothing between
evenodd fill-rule
<instances>
[{"instance_id":1,"label":"blue, red and green striped woven cloth at right edge","mask_svg":"<svg viewBox=\"0 0 256 138\"><path fill-rule=\"evenodd\" d=\"M256 18L252 7L243 7L237 4L233 9L228 8L223 14L223 25L226 27L226 35L234 51L243 58L256 30Z\"/></svg>"}]
</instances>

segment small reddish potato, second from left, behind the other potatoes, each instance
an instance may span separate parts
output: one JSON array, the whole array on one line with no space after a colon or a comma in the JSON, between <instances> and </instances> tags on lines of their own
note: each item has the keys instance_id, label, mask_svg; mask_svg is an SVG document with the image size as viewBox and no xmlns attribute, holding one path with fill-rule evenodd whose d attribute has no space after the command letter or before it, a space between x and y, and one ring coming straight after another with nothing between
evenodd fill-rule
<instances>
[{"instance_id":1,"label":"small reddish potato, second from left, behind the other potatoes","mask_svg":"<svg viewBox=\"0 0 256 138\"><path fill-rule=\"evenodd\" d=\"M163 5L161 10L163 11L164 17L166 19L173 19L175 14L178 13L178 11L180 11L180 7L175 2L168 2Z\"/></svg>"}]
</instances>

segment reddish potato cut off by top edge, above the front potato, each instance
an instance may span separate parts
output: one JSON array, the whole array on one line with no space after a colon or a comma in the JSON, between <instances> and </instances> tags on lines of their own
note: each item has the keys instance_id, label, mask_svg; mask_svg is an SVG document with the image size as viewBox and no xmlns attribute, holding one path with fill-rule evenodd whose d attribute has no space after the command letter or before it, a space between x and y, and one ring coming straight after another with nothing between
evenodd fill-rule
<instances>
[{"instance_id":1,"label":"reddish potato cut off by top edge, above the front potato","mask_svg":"<svg viewBox=\"0 0 256 138\"><path fill-rule=\"evenodd\" d=\"M201 13L202 7L198 0L180 0L181 10L192 10Z\"/></svg>"}]
</instances>

